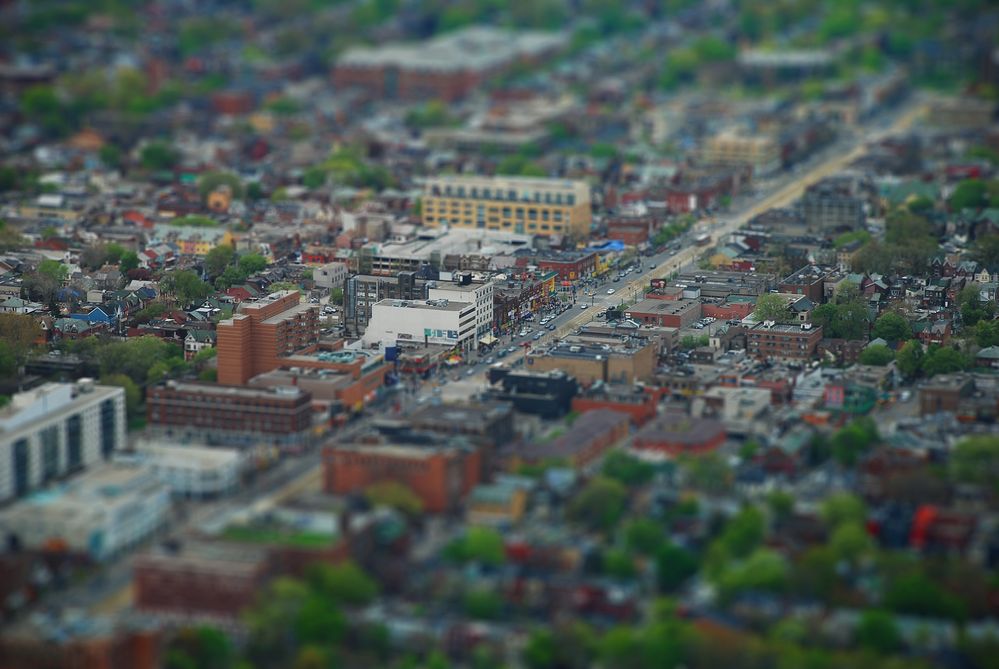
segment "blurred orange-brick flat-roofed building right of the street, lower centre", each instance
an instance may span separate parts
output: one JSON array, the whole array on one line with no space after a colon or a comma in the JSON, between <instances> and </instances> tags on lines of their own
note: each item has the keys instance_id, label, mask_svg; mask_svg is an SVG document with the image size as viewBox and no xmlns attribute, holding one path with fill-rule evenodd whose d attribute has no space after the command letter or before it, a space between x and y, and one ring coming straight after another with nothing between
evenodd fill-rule
<instances>
[{"instance_id":1,"label":"blurred orange-brick flat-roofed building right of the street, lower centre","mask_svg":"<svg viewBox=\"0 0 999 669\"><path fill-rule=\"evenodd\" d=\"M385 481L410 488L430 513L454 510L481 480L481 455L469 445L337 444L323 451L323 489L362 492Z\"/></svg>"}]
</instances>

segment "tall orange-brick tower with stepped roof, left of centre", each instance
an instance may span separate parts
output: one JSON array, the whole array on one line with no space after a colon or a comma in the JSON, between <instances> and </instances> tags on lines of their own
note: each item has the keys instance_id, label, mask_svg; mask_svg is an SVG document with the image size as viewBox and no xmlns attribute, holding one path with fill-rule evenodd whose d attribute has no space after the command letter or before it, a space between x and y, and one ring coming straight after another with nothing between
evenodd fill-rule
<instances>
[{"instance_id":1,"label":"tall orange-brick tower with stepped roof, left of centre","mask_svg":"<svg viewBox=\"0 0 999 669\"><path fill-rule=\"evenodd\" d=\"M319 341L319 307L301 303L297 290L243 302L217 329L218 382L241 386Z\"/></svg>"}]
</instances>

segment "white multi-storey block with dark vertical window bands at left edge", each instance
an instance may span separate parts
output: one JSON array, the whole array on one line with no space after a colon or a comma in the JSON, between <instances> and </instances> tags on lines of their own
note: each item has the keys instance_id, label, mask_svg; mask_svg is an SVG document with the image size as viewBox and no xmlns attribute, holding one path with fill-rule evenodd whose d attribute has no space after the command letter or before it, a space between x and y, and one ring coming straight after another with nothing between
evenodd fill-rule
<instances>
[{"instance_id":1,"label":"white multi-storey block with dark vertical window bands at left edge","mask_svg":"<svg viewBox=\"0 0 999 669\"><path fill-rule=\"evenodd\" d=\"M125 391L46 383L0 409L0 503L111 458L125 444Z\"/></svg>"}]
</instances>

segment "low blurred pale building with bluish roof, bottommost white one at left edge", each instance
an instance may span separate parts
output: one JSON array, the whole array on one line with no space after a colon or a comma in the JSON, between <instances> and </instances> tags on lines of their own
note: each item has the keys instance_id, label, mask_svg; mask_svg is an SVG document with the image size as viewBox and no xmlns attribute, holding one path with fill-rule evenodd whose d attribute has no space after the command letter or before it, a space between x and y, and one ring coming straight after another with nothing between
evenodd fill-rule
<instances>
[{"instance_id":1,"label":"low blurred pale building with bluish roof, bottommost white one at left edge","mask_svg":"<svg viewBox=\"0 0 999 669\"><path fill-rule=\"evenodd\" d=\"M107 560L162 527L170 491L151 470L102 465L0 511L0 533L27 549Z\"/></svg>"}]
</instances>

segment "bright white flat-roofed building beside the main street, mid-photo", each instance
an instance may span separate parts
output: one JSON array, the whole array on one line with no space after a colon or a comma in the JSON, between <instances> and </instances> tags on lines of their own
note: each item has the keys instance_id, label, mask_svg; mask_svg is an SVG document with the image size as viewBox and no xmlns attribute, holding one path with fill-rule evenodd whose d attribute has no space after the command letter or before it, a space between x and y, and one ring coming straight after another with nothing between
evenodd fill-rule
<instances>
[{"instance_id":1,"label":"bright white flat-roofed building beside the main street, mid-photo","mask_svg":"<svg viewBox=\"0 0 999 669\"><path fill-rule=\"evenodd\" d=\"M381 300L371 305L365 346L443 345L475 348L475 305L437 299Z\"/></svg>"}]
</instances>

